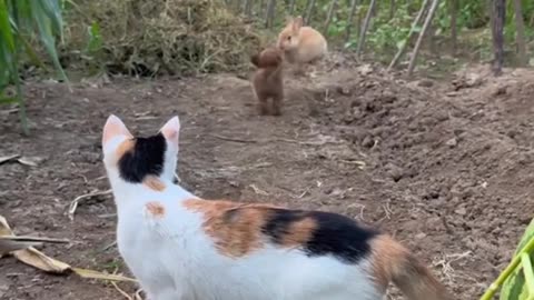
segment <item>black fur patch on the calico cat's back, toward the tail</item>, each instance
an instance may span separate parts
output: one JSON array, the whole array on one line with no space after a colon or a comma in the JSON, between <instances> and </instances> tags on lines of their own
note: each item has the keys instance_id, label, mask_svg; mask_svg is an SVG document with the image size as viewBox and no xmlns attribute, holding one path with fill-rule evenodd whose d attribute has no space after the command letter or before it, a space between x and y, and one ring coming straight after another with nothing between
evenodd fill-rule
<instances>
[{"instance_id":1,"label":"black fur patch on the calico cat's back, toward the tail","mask_svg":"<svg viewBox=\"0 0 534 300\"><path fill-rule=\"evenodd\" d=\"M377 231L359 226L353 219L337 213L275 209L263 228L273 242L280 243L293 222L310 218L317 229L303 250L308 257L332 254L347 263L356 263L370 251L369 241Z\"/></svg>"}]
</instances>

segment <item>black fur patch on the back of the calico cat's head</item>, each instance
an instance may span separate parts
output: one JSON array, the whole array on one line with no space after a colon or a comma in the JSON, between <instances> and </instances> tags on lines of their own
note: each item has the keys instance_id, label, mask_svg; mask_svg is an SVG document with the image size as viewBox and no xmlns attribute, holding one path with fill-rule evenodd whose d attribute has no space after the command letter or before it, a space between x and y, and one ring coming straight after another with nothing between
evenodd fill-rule
<instances>
[{"instance_id":1,"label":"black fur patch on the back of the calico cat's head","mask_svg":"<svg viewBox=\"0 0 534 300\"><path fill-rule=\"evenodd\" d=\"M147 176L159 177L164 171L165 151L167 143L159 133L149 138L136 138L131 151L126 152L119 160L120 177L132 183L140 183Z\"/></svg>"}]
</instances>

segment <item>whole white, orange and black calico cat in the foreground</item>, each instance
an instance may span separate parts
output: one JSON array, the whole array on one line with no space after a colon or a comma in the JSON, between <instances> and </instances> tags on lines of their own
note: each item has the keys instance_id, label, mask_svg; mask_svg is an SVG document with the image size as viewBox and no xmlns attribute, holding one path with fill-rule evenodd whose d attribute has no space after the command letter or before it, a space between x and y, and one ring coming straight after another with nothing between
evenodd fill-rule
<instances>
[{"instance_id":1,"label":"whole white, orange and black calico cat in the foreground","mask_svg":"<svg viewBox=\"0 0 534 300\"><path fill-rule=\"evenodd\" d=\"M204 200L172 183L178 117L134 137L110 116L103 163L119 252L150 300L448 300L414 254L329 212Z\"/></svg>"}]
</instances>

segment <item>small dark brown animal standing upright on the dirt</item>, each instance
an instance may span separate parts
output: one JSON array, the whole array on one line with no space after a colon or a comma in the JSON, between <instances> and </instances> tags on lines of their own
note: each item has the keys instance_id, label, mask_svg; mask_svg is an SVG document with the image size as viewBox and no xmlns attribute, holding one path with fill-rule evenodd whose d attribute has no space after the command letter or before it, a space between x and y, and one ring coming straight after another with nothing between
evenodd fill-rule
<instances>
[{"instance_id":1,"label":"small dark brown animal standing upright on the dirt","mask_svg":"<svg viewBox=\"0 0 534 300\"><path fill-rule=\"evenodd\" d=\"M283 52L274 47L264 49L254 54L250 61L258 69L253 77L253 89L259 101L260 114L281 114L281 100L284 99L284 80L281 74ZM269 99L273 108L269 109Z\"/></svg>"}]
</instances>

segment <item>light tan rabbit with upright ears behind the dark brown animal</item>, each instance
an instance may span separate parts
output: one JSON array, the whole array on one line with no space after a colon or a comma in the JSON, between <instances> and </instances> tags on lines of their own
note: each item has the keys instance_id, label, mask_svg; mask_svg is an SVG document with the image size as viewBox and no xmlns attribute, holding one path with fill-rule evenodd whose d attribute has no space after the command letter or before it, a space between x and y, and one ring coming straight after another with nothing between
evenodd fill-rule
<instances>
[{"instance_id":1,"label":"light tan rabbit with upright ears behind the dark brown animal","mask_svg":"<svg viewBox=\"0 0 534 300\"><path fill-rule=\"evenodd\" d=\"M323 58L328 52L325 37L312 27L303 27L303 18L289 19L278 34L278 48L284 51L285 59L297 63L298 69L304 63Z\"/></svg>"}]
</instances>

